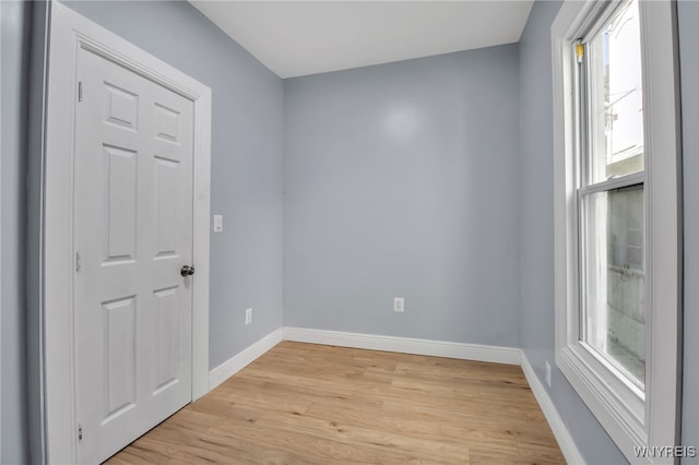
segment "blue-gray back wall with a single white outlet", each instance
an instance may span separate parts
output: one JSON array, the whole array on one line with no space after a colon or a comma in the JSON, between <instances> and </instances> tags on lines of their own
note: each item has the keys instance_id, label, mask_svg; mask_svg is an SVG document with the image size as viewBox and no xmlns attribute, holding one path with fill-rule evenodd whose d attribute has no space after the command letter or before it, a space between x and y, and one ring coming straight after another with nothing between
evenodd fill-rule
<instances>
[{"instance_id":1,"label":"blue-gray back wall with a single white outlet","mask_svg":"<svg viewBox=\"0 0 699 465\"><path fill-rule=\"evenodd\" d=\"M509 45L284 82L286 325L519 346L517 76Z\"/></svg>"}]
</instances>

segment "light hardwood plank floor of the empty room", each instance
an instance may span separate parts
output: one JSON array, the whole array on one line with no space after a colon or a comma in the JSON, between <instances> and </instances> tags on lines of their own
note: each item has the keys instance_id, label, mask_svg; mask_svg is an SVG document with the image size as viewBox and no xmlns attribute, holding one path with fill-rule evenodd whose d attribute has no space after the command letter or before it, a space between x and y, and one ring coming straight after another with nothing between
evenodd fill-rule
<instances>
[{"instance_id":1,"label":"light hardwood plank floor of the empty room","mask_svg":"<svg viewBox=\"0 0 699 465\"><path fill-rule=\"evenodd\" d=\"M520 367L283 342L107 463L565 460Z\"/></svg>"}]
</instances>

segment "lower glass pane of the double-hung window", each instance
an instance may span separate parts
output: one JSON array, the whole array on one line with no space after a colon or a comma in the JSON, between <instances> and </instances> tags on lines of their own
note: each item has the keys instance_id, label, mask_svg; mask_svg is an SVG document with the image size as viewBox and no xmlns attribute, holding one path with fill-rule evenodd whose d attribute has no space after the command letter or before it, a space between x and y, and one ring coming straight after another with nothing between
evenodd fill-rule
<instances>
[{"instance_id":1,"label":"lower glass pane of the double-hung window","mask_svg":"<svg viewBox=\"0 0 699 465\"><path fill-rule=\"evenodd\" d=\"M584 341L641 385L645 371L643 186L584 199Z\"/></svg>"}]
</instances>

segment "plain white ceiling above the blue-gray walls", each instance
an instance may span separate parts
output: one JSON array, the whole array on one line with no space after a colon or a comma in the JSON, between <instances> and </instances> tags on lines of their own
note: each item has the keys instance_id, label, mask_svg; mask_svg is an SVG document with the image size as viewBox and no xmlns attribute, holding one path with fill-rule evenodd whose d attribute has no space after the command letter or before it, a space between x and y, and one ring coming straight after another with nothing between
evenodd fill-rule
<instances>
[{"instance_id":1,"label":"plain white ceiling above the blue-gray walls","mask_svg":"<svg viewBox=\"0 0 699 465\"><path fill-rule=\"evenodd\" d=\"M281 78L388 63L520 39L533 1L199 1Z\"/></svg>"}]
</instances>

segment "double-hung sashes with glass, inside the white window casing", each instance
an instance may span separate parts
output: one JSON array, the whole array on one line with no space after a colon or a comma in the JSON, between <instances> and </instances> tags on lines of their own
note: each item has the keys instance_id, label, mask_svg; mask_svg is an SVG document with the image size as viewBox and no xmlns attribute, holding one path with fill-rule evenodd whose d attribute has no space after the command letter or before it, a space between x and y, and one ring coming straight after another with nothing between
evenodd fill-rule
<instances>
[{"instance_id":1,"label":"double-hung sashes with glass, inside the white window casing","mask_svg":"<svg viewBox=\"0 0 699 465\"><path fill-rule=\"evenodd\" d=\"M577 88L580 341L642 390L645 213L638 2L623 3L582 46Z\"/></svg>"}]
</instances>

